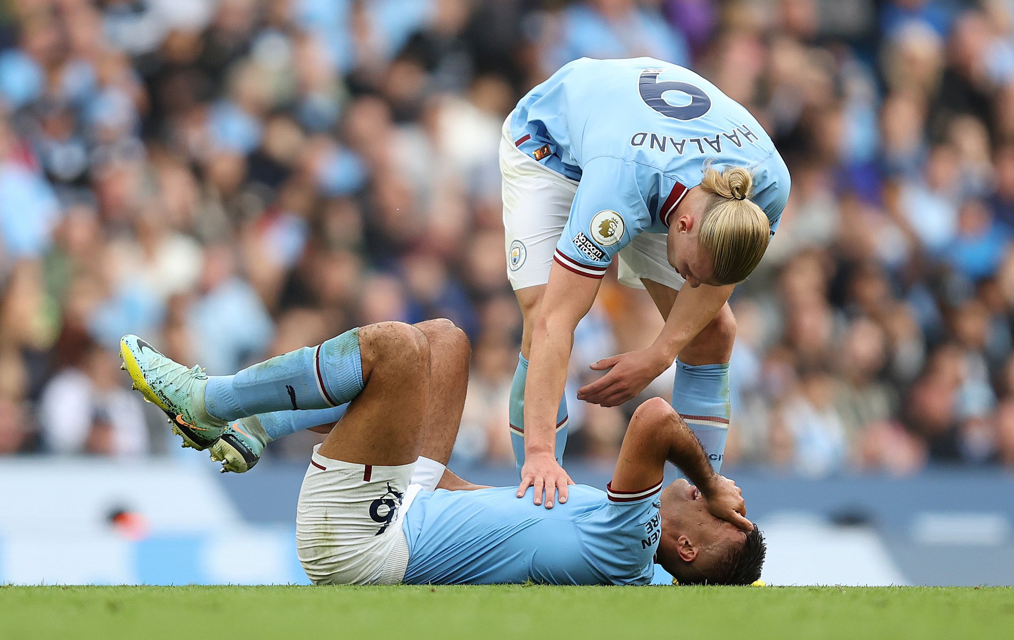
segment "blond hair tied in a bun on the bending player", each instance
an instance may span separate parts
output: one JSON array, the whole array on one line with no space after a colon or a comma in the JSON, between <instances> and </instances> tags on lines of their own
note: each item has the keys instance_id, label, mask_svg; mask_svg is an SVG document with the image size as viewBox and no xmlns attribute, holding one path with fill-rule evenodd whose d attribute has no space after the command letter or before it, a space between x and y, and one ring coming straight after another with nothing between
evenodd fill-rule
<instances>
[{"instance_id":1,"label":"blond hair tied in a bun on the bending player","mask_svg":"<svg viewBox=\"0 0 1014 640\"><path fill-rule=\"evenodd\" d=\"M749 201L753 174L743 167L719 172L705 167L701 188L708 193L698 246L711 256L712 278L722 285L746 279L771 238L764 210Z\"/></svg>"}]
</instances>

